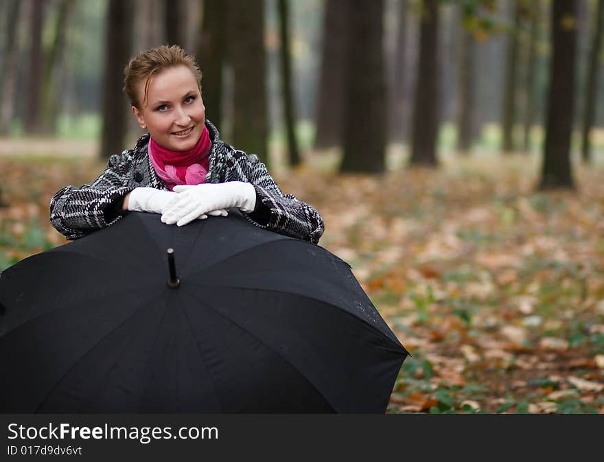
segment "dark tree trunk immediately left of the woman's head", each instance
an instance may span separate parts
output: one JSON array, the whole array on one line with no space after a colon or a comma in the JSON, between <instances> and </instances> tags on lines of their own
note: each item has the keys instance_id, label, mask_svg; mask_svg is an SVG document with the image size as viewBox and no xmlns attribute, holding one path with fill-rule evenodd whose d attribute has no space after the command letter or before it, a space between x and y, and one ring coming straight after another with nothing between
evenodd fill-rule
<instances>
[{"instance_id":1,"label":"dark tree trunk immediately left of the woman's head","mask_svg":"<svg viewBox=\"0 0 604 462\"><path fill-rule=\"evenodd\" d=\"M126 116L128 115L121 93L124 66L130 58L132 47L132 0L110 0L105 27L105 73L102 91L103 129L101 159L124 150Z\"/></svg>"}]
</instances>

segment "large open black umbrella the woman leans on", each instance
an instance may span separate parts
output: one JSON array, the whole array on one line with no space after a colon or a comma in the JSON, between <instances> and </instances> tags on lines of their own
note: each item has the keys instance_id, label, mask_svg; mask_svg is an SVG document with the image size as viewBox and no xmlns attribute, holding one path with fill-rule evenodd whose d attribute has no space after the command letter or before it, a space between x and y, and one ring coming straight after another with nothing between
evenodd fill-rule
<instances>
[{"instance_id":1,"label":"large open black umbrella the woman leans on","mask_svg":"<svg viewBox=\"0 0 604 462\"><path fill-rule=\"evenodd\" d=\"M0 305L3 413L384 413L407 355L346 262L235 213L129 213L5 270Z\"/></svg>"}]
</instances>

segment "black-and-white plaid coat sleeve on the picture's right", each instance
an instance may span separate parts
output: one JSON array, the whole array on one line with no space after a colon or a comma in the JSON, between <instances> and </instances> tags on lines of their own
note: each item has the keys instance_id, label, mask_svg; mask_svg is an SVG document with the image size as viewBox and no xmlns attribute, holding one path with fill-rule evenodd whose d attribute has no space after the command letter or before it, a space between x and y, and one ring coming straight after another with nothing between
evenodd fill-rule
<instances>
[{"instance_id":1,"label":"black-and-white plaid coat sleeve on the picture's right","mask_svg":"<svg viewBox=\"0 0 604 462\"><path fill-rule=\"evenodd\" d=\"M264 208L260 213L258 206L255 212L244 213L248 220L270 231L318 243L325 231L325 225L314 207L298 200L292 194L283 194L268 173L266 165L254 154L247 155L242 151L235 151L232 165L233 167L227 170L225 181L252 183L256 189L256 200L260 200L260 207ZM262 220L259 216L262 216Z\"/></svg>"}]
</instances>

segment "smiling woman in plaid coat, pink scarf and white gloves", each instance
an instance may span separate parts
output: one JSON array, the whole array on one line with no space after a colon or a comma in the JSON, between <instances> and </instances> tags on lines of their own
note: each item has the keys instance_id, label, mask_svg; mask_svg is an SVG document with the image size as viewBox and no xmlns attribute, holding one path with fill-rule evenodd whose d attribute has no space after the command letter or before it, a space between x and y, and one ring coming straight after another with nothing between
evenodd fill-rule
<instances>
[{"instance_id":1,"label":"smiling woman in plaid coat, pink scarf and white gloves","mask_svg":"<svg viewBox=\"0 0 604 462\"><path fill-rule=\"evenodd\" d=\"M255 155L220 140L205 120L201 72L181 47L141 52L124 69L124 92L141 128L136 146L109 159L90 185L67 186L50 201L52 225L68 239L117 222L128 211L184 226L237 207L258 227L317 243L318 212L283 194Z\"/></svg>"}]
</instances>

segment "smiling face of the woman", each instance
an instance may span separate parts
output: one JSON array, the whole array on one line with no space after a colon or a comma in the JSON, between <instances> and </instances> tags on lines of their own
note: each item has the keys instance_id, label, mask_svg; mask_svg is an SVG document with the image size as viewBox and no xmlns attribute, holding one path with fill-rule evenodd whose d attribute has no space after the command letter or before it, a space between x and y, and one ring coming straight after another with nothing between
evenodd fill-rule
<instances>
[{"instance_id":1,"label":"smiling face of the woman","mask_svg":"<svg viewBox=\"0 0 604 462\"><path fill-rule=\"evenodd\" d=\"M145 80L137 84L141 108L132 106L141 128L160 146L173 151L193 148L205 122L205 106L191 70L186 66L164 69L151 76L147 99Z\"/></svg>"}]
</instances>

